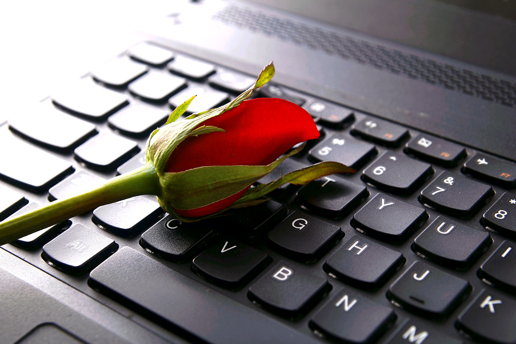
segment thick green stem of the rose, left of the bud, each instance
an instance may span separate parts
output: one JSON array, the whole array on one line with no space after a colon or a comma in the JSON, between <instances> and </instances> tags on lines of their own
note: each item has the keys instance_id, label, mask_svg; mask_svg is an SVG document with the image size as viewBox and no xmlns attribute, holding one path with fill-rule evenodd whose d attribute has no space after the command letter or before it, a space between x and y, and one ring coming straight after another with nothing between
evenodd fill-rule
<instances>
[{"instance_id":1,"label":"thick green stem of the rose, left of the bud","mask_svg":"<svg viewBox=\"0 0 516 344\"><path fill-rule=\"evenodd\" d=\"M0 245L66 221L101 205L143 194L159 195L159 178L152 163L109 179L105 184L59 199L18 217L0 222Z\"/></svg>"}]
</instances>

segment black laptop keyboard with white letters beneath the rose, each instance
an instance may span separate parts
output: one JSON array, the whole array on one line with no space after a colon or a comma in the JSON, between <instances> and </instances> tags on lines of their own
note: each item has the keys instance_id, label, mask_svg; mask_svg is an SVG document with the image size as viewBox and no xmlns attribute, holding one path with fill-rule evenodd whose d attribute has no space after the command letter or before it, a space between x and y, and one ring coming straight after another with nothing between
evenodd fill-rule
<instances>
[{"instance_id":1,"label":"black laptop keyboard with white letters beneath the rose","mask_svg":"<svg viewBox=\"0 0 516 344\"><path fill-rule=\"evenodd\" d=\"M13 116L0 220L142 166L171 108L254 82L228 67L143 42ZM326 160L357 172L194 223L142 195L2 248L191 341L516 341L514 162L273 82L256 96L303 106L321 133L259 183Z\"/></svg>"}]
</instances>

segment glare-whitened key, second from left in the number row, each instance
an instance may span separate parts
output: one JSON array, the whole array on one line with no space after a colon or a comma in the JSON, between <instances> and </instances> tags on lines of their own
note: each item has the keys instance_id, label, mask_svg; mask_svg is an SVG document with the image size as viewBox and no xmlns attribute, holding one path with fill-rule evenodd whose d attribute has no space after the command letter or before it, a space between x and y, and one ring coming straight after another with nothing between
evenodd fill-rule
<instances>
[{"instance_id":1,"label":"glare-whitened key, second from left in the number row","mask_svg":"<svg viewBox=\"0 0 516 344\"><path fill-rule=\"evenodd\" d=\"M172 94L186 87L186 80L170 73L151 70L133 81L127 89L149 102L165 102Z\"/></svg>"}]
</instances>

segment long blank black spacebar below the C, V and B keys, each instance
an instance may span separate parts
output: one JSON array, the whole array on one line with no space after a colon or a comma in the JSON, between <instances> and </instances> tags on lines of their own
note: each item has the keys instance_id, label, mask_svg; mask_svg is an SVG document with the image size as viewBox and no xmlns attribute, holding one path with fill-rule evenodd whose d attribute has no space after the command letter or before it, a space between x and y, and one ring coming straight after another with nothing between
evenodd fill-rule
<instances>
[{"instance_id":1,"label":"long blank black spacebar below the C, V and B keys","mask_svg":"<svg viewBox=\"0 0 516 344\"><path fill-rule=\"evenodd\" d=\"M319 343L128 247L91 271L88 283L206 342Z\"/></svg>"}]
</instances>

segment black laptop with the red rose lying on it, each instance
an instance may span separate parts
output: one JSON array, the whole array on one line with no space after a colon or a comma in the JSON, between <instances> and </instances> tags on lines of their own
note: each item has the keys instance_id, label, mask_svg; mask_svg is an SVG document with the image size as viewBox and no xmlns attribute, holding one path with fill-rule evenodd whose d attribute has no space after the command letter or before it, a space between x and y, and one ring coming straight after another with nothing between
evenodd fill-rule
<instances>
[{"instance_id":1,"label":"black laptop with the red rose lying on it","mask_svg":"<svg viewBox=\"0 0 516 344\"><path fill-rule=\"evenodd\" d=\"M254 96L321 135L259 183L357 172L195 223L142 195L4 244L0 342L516 342L512 1L166 7L3 114L1 220L141 166L192 92L218 106L270 61Z\"/></svg>"}]
</instances>

